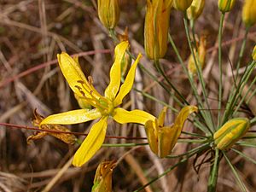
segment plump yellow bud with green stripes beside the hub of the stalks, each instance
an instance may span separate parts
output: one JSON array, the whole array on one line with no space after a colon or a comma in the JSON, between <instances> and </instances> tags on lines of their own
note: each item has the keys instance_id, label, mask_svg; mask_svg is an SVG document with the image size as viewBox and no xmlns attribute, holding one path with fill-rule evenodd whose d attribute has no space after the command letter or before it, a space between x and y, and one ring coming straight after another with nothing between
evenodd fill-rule
<instances>
[{"instance_id":1,"label":"plump yellow bud with green stripes beside the hub of the stalks","mask_svg":"<svg viewBox=\"0 0 256 192\"><path fill-rule=\"evenodd\" d=\"M213 135L214 143L220 150L228 149L243 137L250 128L247 118L230 119Z\"/></svg>"}]
</instances>

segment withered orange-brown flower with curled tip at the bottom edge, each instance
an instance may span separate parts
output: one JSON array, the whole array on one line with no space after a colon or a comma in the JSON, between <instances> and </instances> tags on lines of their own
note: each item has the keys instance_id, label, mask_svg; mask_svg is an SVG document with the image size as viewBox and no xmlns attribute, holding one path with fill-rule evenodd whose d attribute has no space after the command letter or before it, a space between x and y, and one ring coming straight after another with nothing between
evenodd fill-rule
<instances>
[{"instance_id":1,"label":"withered orange-brown flower with curled tip at the bottom edge","mask_svg":"<svg viewBox=\"0 0 256 192\"><path fill-rule=\"evenodd\" d=\"M112 192L112 173L115 160L103 161L96 169L91 192Z\"/></svg>"}]
</instances>

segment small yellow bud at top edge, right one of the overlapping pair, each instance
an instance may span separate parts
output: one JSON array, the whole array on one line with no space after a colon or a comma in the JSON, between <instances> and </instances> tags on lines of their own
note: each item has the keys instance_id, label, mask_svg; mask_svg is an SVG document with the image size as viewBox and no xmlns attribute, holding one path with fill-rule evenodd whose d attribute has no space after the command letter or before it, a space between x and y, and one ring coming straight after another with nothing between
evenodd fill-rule
<instances>
[{"instance_id":1,"label":"small yellow bud at top edge, right one of the overlapping pair","mask_svg":"<svg viewBox=\"0 0 256 192\"><path fill-rule=\"evenodd\" d=\"M187 10L189 20L196 20L205 7L205 0L194 0Z\"/></svg>"}]
</instances>

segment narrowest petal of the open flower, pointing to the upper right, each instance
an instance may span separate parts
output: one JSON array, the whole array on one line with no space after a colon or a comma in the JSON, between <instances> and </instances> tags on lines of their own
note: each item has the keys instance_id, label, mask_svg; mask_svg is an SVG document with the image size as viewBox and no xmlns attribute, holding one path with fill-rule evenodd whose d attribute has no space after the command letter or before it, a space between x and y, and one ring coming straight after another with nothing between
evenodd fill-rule
<instances>
[{"instance_id":1,"label":"narrowest petal of the open flower, pointing to the upper right","mask_svg":"<svg viewBox=\"0 0 256 192\"><path fill-rule=\"evenodd\" d=\"M142 57L142 55L139 54L137 56L136 61L134 61L133 65L131 66L131 68L126 76L124 84L122 84L122 86L120 87L119 94L114 99L114 102L113 102L114 106L118 106L119 104L121 104L123 101L123 98L130 92L133 82L134 82L134 78L135 78L136 67L137 67L137 64L140 61L141 57Z\"/></svg>"}]
</instances>

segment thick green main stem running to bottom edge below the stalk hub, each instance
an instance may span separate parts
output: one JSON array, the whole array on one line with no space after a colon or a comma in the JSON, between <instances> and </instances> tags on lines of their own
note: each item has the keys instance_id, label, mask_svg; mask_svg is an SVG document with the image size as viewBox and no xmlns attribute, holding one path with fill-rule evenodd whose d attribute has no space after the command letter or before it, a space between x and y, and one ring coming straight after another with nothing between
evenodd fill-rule
<instances>
[{"instance_id":1,"label":"thick green main stem running to bottom edge below the stalk hub","mask_svg":"<svg viewBox=\"0 0 256 192\"><path fill-rule=\"evenodd\" d=\"M211 166L210 177L208 179L207 192L215 192L218 181L218 165L219 165L219 150L215 149L214 163Z\"/></svg>"}]
</instances>

